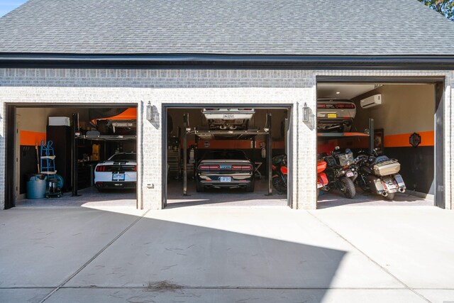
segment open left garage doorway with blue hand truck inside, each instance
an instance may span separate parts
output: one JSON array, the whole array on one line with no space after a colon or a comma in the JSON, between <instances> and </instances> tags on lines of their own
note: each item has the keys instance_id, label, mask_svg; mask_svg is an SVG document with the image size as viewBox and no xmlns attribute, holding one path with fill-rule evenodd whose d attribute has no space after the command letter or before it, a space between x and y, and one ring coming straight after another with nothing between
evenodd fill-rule
<instances>
[{"instance_id":1,"label":"open left garage doorway with blue hand truck inside","mask_svg":"<svg viewBox=\"0 0 454 303\"><path fill-rule=\"evenodd\" d=\"M8 105L8 206L136 208L135 106ZM11 161L9 160L9 161Z\"/></svg>"}]
</instances>

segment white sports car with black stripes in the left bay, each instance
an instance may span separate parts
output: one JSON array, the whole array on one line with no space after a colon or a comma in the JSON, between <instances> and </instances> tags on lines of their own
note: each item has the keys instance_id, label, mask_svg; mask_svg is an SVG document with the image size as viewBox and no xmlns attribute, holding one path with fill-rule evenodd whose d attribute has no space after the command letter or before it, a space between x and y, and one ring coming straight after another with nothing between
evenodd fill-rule
<instances>
[{"instance_id":1,"label":"white sports car with black stripes in the left bay","mask_svg":"<svg viewBox=\"0 0 454 303\"><path fill-rule=\"evenodd\" d=\"M94 169L94 184L102 189L130 189L137 184L136 153L116 153Z\"/></svg>"}]
</instances>

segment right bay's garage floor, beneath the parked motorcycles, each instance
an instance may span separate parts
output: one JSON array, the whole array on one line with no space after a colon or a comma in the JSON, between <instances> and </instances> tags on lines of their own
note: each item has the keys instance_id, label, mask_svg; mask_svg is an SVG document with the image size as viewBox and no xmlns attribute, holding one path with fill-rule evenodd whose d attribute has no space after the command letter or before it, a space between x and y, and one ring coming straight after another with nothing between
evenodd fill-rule
<instances>
[{"instance_id":1,"label":"right bay's garage floor, beneath the parked motorcycles","mask_svg":"<svg viewBox=\"0 0 454 303\"><path fill-rule=\"evenodd\" d=\"M362 192L357 189L355 199L347 199L341 192L322 192L317 202L318 209L326 209L334 206L433 206L433 201L409 194L397 193L393 201L383 199L377 194Z\"/></svg>"}]
</instances>

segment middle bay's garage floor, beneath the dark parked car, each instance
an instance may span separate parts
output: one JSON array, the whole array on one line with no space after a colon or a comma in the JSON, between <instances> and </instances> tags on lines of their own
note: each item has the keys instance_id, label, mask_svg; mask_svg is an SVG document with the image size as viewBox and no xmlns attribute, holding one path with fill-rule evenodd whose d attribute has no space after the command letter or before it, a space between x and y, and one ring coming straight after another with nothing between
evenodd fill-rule
<instances>
[{"instance_id":1,"label":"middle bay's garage floor, beneath the dark parked car","mask_svg":"<svg viewBox=\"0 0 454 303\"><path fill-rule=\"evenodd\" d=\"M267 180L255 180L254 192L244 189L208 189L196 192L194 180L188 180L188 194L183 196L183 183L170 180L167 185L167 208L182 206L287 206L287 195L278 194L273 188L268 193Z\"/></svg>"}]
</instances>

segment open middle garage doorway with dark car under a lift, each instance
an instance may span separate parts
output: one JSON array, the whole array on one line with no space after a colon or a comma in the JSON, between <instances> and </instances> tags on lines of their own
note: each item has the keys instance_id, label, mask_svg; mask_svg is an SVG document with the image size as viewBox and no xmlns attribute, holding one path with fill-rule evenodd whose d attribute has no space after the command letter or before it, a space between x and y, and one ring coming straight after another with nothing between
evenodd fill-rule
<instances>
[{"instance_id":1,"label":"open middle garage doorway with dark car under a lift","mask_svg":"<svg viewBox=\"0 0 454 303\"><path fill-rule=\"evenodd\" d=\"M165 206L287 206L290 112L168 107Z\"/></svg>"}]
</instances>

